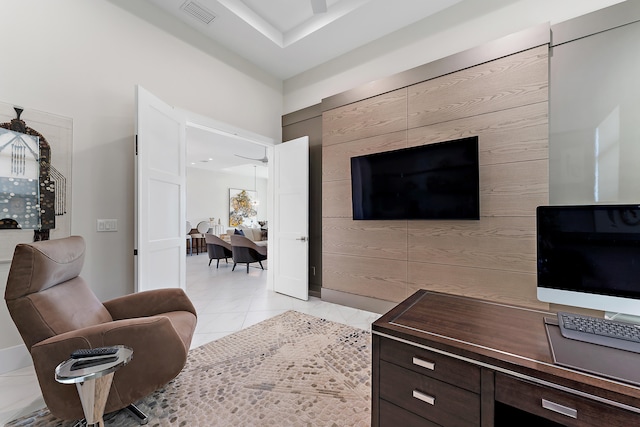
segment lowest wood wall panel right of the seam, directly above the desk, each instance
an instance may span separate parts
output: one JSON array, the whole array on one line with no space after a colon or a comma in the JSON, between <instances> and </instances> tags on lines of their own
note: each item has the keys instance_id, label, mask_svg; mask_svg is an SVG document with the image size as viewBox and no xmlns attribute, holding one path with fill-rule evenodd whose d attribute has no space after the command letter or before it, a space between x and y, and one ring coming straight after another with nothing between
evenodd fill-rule
<instances>
[{"instance_id":1,"label":"lowest wood wall panel right of the seam, directly above the desk","mask_svg":"<svg viewBox=\"0 0 640 427\"><path fill-rule=\"evenodd\" d=\"M428 289L542 310L549 307L537 300L533 273L410 262L408 280L409 294Z\"/></svg>"}]
</instances>

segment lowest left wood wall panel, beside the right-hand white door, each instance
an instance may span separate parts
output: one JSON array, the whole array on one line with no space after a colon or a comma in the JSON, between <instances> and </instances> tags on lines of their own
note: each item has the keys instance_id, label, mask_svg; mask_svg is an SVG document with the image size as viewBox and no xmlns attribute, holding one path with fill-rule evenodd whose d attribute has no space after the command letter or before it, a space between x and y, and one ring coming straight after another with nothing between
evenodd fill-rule
<instances>
[{"instance_id":1,"label":"lowest left wood wall panel, beside the right-hand white door","mask_svg":"<svg viewBox=\"0 0 640 427\"><path fill-rule=\"evenodd\" d=\"M407 261L324 254L324 288L400 302L407 294Z\"/></svg>"}]
</instances>

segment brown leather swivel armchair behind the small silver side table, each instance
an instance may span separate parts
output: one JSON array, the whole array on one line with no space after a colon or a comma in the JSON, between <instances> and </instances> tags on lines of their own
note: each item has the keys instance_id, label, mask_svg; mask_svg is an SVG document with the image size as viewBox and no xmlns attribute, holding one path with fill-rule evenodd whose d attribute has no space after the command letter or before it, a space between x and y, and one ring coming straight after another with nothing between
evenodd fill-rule
<instances>
[{"instance_id":1,"label":"brown leather swivel armchair behind the small silver side table","mask_svg":"<svg viewBox=\"0 0 640 427\"><path fill-rule=\"evenodd\" d=\"M117 344L133 349L133 360L113 377L105 413L127 407L135 413L134 402L180 373L196 326L195 308L182 289L100 302L79 276L84 256L79 236L19 244L5 291L44 401L63 420L84 417L76 387L54 378L55 367L73 350Z\"/></svg>"}]
</instances>

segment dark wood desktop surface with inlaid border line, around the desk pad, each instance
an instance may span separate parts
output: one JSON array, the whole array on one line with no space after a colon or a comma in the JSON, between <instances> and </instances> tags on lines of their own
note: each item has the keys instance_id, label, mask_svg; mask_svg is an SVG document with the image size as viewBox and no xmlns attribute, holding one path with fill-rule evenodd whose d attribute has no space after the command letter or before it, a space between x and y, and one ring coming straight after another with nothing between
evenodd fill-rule
<instances>
[{"instance_id":1,"label":"dark wood desktop surface with inlaid border line, around the desk pad","mask_svg":"<svg viewBox=\"0 0 640 427\"><path fill-rule=\"evenodd\" d=\"M441 350L498 372L640 410L640 387L554 364L544 318L555 316L421 290L374 322L372 332ZM640 354L638 362L640 369Z\"/></svg>"}]
</instances>

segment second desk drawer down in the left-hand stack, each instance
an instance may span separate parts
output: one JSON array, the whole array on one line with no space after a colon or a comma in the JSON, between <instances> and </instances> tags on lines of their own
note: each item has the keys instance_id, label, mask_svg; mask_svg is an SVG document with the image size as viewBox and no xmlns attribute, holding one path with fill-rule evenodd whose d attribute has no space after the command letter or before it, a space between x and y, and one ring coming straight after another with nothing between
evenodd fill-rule
<instances>
[{"instance_id":1,"label":"second desk drawer down in the left-hand stack","mask_svg":"<svg viewBox=\"0 0 640 427\"><path fill-rule=\"evenodd\" d=\"M440 425L480 425L478 394L383 360L380 398Z\"/></svg>"}]
</instances>

